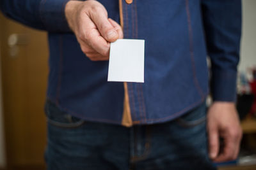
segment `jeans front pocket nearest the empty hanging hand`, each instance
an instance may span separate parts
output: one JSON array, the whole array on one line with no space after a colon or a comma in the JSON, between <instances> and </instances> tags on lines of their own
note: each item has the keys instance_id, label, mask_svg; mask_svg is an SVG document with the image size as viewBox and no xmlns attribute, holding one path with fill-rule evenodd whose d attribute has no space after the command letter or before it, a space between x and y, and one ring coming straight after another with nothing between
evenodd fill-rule
<instances>
[{"instance_id":1,"label":"jeans front pocket nearest the empty hanging hand","mask_svg":"<svg viewBox=\"0 0 256 170\"><path fill-rule=\"evenodd\" d=\"M206 121L206 105L205 103L189 111L185 115L176 119L176 122L181 127L195 127L196 125L204 124Z\"/></svg>"}]
</instances>

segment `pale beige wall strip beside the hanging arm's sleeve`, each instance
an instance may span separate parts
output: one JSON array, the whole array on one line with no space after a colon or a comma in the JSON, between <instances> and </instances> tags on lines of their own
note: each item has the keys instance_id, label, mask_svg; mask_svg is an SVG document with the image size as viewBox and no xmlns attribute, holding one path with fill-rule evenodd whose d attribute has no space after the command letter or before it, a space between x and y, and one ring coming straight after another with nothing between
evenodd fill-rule
<instances>
[{"instance_id":1,"label":"pale beige wall strip beside the hanging arm's sleeve","mask_svg":"<svg viewBox=\"0 0 256 170\"><path fill-rule=\"evenodd\" d=\"M239 70L256 66L256 1L243 0L243 31Z\"/></svg>"}]
</instances>

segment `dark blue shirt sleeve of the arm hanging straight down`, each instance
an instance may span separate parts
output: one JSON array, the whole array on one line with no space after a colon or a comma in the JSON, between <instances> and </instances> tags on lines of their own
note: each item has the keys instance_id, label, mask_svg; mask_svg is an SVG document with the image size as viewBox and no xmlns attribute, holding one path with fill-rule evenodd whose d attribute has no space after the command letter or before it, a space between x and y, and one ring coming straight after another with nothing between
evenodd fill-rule
<instances>
[{"instance_id":1,"label":"dark blue shirt sleeve of the arm hanging straight down","mask_svg":"<svg viewBox=\"0 0 256 170\"><path fill-rule=\"evenodd\" d=\"M236 101L241 39L241 0L202 0L214 101Z\"/></svg>"}]
</instances>

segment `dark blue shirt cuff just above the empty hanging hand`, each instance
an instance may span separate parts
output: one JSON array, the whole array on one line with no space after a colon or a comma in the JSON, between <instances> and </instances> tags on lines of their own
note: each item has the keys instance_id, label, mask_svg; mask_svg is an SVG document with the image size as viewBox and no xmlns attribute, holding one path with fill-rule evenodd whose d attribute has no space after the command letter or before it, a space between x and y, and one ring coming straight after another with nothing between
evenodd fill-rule
<instances>
[{"instance_id":1,"label":"dark blue shirt cuff just above the empty hanging hand","mask_svg":"<svg viewBox=\"0 0 256 170\"><path fill-rule=\"evenodd\" d=\"M237 71L212 71L211 91L213 101L236 101Z\"/></svg>"}]
</instances>

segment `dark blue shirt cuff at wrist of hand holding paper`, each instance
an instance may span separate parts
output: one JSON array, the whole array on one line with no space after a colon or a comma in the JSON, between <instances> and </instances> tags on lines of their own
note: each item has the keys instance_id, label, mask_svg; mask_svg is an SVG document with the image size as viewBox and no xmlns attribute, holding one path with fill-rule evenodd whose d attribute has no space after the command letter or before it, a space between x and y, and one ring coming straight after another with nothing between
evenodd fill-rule
<instances>
[{"instance_id":1,"label":"dark blue shirt cuff at wrist of hand holding paper","mask_svg":"<svg viewBox=\"0 0 256 170\"><path fill-rule=\"evenodd\" d=\"M65 17L65 6L70 0L42 0L39 14L49 32L71 32Z\"/></svg>"}]
</instances>

